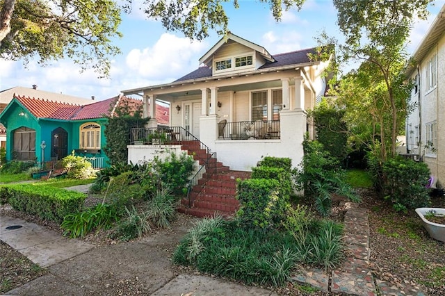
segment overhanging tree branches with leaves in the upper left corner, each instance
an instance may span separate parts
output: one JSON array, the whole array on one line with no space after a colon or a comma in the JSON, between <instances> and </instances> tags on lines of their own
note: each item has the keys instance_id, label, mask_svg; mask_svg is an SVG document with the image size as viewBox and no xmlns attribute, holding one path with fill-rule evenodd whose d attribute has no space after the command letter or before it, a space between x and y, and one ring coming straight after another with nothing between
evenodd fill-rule
<instances>
[{"instance_id":1,"label":"overhanging tree branches with leaves in the upper left corner","mask_svg":"<svg viewBox=\"0 0 445 296\"><path fill-rule=\"evenodd\" d=\"M120 8L113 0L0 0L0 55L10 60L38 56L40 64L70 58L108 76L110 56L120 54L111 38Z\"/></svg>"}]
</instances>

